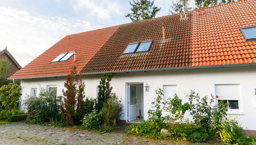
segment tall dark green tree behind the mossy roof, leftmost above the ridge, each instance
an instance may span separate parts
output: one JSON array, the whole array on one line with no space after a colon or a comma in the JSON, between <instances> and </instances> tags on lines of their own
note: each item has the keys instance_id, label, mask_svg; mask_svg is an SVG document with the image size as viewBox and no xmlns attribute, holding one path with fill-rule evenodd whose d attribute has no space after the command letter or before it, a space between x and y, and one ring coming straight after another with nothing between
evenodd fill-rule
<instances>
[{"instance_id":1,"label":"tall dark green tree behind the mossy roof, leftmost above the ridge","mask_svg":"<svg viewBox=\"0 0 256 145\"><path fill-rule=\"evenodd\" d=\"M128 13L125 17L129 17L132 22L152 19L156 17L157 12L161 9L154 5L154 0L132 0L130 2L132 13Z\"/></svg>"}]
</instances>

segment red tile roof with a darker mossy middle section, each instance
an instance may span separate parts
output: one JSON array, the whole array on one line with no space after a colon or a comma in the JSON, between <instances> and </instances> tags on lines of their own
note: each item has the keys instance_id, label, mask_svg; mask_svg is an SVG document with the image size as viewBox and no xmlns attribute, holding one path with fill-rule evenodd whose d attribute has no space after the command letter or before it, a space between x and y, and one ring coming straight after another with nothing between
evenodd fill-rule
<instances>
[{"instance_id":1,"label":"red tile roof with a darker mossy middle section","mask_svg":"<svg viewBox=\"0 0 256 145\"><path fill-rule=\"evenodd\" d=\"M78 73L190 67L256 62L256 41L245 42L239 28L256 25L256 0L123 24L62 38L10 77L33 78ZM203 11L203 14L202 14ZM198 16L199 13L199 16ZM162 26L165 27L163 40ZM149 53L125 55L128 43L153 40ZM51 63L60 53L76 51L67 62Z\"/></svg>"}]
</instances>

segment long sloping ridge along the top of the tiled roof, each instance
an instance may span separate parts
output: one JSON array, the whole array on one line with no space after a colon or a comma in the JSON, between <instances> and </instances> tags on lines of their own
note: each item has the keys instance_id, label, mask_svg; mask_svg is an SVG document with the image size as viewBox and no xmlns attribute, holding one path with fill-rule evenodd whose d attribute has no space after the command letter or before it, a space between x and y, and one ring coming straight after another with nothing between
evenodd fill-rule
<instances>
[{"instance_id":1,"label":"long sloping ridge along the top of the tiled roof","mask_svg":"<svg viewBox=\"0 0 256 145\"><path fill-rule=\"evenodd\" d=\"M197 11L197 10L209 9L209 8L214 8L214 7L223 6L223 5L230 5L230 4L234 4L234 3L242 3L242 2L246 2L246 1L253 1L253 0L240 0L240 1L230 2L230 3L224 3L224 4L219 4L219 5L204 7L204 8L200 8L200 9L193 9L193 10L186 11L186 12L193 12L193 11ZM180 12L180 13L184 13L184 12ZM85 31L85 32L92 32L92 31L96 31L96 30L102 30L102 29L107 29L107 28L111 28L111 27L117 27L117 26L121 26L121 25L127 25L127 24L132 24L132 23L139 23L139 22L143 22L143 21L149 21L149 20L152 20L152 19L160 19L160 18L163 18L163 17L173 16L173 15L179 15L180 13L175 13L175 14L171 14L171 15L166 15L166 16L161 16L161 17L151 18L151 19L146 19L146 20L141 20L141 21L135 21L135 22L125 23L125 24L120 24L120 25L115 25L115 26L110 26L110 27L104 27L104 28L95 29L95 30L90 30L90 31ZM85 33L85 32L80 32L80 33ZM70 34L70 35L75 35L75 34L80 34L80 33L74 33L74 34ZM66 35L66 36L69 36L69 35Z\"/></svg>"}]
</instances>

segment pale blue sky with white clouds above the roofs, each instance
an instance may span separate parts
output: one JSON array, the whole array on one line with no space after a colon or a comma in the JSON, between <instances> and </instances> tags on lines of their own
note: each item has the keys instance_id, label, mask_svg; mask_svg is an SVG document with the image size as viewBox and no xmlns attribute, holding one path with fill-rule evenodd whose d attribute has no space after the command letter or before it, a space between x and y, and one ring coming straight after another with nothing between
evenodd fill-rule
<instances>
[{"instance_id":1,"label":"pale blue sky with white clouds above the roofs","mask_svg":"<svg viewBox=\"0 0 256 145\"><path fill-rule=\"evenodd\" d=\"M24 67L66 35L130 23L129 1L1 0L0 51L7 47ZM168 15L171 4L155 0L156 17Z\"/></svg>"}]
</instances>

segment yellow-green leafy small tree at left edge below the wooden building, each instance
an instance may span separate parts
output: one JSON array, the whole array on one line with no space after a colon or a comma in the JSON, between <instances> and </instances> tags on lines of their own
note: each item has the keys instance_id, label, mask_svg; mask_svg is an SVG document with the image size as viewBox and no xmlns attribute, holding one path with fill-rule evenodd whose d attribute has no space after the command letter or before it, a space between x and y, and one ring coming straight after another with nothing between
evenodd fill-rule
<instances>
[{"instance_id":1,"label":"yellow-green leafy small tree at left edge below the wooden building","mask_svg":"<svg viewBox=\"0 0 256 145\"><path fill-rule=\"evenodd\" d=\"M16 84L4 85L0 88L0 102L6 110L17 109L21 87Z\"/></svg>"}]
</instances>

